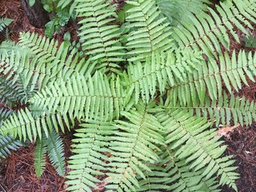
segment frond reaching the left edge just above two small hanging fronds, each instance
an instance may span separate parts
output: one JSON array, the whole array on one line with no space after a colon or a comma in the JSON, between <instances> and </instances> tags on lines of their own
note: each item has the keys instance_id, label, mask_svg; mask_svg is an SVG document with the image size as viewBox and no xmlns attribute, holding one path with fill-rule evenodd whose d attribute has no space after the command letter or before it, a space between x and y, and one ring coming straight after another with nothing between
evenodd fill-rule
<instances>
[{"instance_id":1,"label":"frond reaching the left edge just above two small hanging fronds","mask_svg":"<svg viewBox=\"0 0 256 192\"><path fill-rule=\"evenodd\" d=\"M62 119L63 118L63 119ZM74 124L74 118L72 124ZM69 118L65 114L41 114L41 116L34 118L34 115L26 108L25 110L18 110L18 114L10 115L0 130L2 135L10 134L14 138L26 141L29 138L31 142L35 138L42 138L42 133L48 135L53 129L58 131L59 127L64 132L64 126L70 129Z\"/></svg>"}]
</instances>

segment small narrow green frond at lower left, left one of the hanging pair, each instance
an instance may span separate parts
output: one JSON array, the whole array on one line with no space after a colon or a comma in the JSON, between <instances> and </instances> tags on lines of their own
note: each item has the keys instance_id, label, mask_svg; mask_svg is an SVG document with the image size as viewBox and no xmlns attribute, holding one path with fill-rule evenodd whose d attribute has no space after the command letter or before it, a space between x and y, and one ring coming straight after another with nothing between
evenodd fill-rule
<instances>
[{"instance_id":1,"label":"small narrow green frond at lower left, left one of the hanging pair","mask_svg":"<svg viewBox=\"0 0 256 192\"><path fill-rule=\"evenodd\" d=\"M37 178L40 178L46 169L46 143L45 139L38 139L34 149L34 170Z\"/></svg>"}]
</instances>

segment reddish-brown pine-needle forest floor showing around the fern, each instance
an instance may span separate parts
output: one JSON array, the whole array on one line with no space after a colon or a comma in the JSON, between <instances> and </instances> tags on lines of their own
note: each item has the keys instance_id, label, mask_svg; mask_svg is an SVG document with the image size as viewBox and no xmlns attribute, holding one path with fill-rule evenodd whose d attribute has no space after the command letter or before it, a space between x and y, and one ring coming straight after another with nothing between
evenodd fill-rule
<instances>
[{"instance_id":1,"label":"reddish-brown pine-needle forest floor showing around the fern","mask_svg":"<svg viewBox=\"0 0 256 192\"><path fill-rule=\"evenodd\" d=\"M18 33L20 31L44 33L43 29L37 29L30 25L19 0L0 0L0 18L2 17L14 19L14 22L10 25L10 38L15 42L18 41ZM74 31L72 24L68 24L63 32L66 30ZM56 34L54 38L62 40L62 34ZM230 50L236 49L248 50L244 43L232 42ZM252 51L255 51L255 49ZM237 94L256 101L256 84L250 82L249 87L243 86L242 90ZM70 157L70 135L63 135L62 138L65 143L67 159ZM234 130L226 132L222 139L228 145L226 154L234 155L235 166L238 166L237 172L240 174L240 178L237 181L238 191L256 192L256 124L248 127L238 126ZM53 166L50 165L49 160L47 160L46 171L42 174L42 178L36 178L33 154L34 145L30 144L12 152L9 158L0 162L0 192L66 191L65 179L58 176ZM233 191L226 186L222 190L224 192ZM104 191L104 182L100 183L98 189L94 191Z\"/></svg>"}]
</instances>

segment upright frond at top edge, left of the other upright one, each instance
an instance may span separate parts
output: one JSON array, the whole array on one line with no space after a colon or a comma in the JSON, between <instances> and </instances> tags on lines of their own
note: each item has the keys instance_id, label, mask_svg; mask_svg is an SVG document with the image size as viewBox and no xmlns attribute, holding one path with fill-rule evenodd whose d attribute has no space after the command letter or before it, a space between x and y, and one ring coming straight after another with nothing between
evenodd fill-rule
<instances>
[{"instance_id":1,"label":"upright frond at top edge, left of the other upright one","mask_svg":"<svg viewBox=\"0 0 256 192\"><path fill-rule=\"evenodd\" d=\"M83 17L80 27L80 40L86 54L92 60L98 61L97 69L103 67L118 67L123 60L124 48L118 42L119 27L111 24L117 18L114 6L110 1L103 0L76 0L78 17Z\"/></svg>"}]
</instances>

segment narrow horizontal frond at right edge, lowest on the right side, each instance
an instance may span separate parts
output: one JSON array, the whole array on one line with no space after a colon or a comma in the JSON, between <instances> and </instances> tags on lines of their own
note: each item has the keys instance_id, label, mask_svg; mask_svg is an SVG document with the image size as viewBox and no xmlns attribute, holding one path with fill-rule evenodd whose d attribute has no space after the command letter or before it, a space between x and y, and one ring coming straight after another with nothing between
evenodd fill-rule
<instances>
[{"instance_id":1,"label":"narrow horizontal frond at right edge, lowest on the right side","mask_svg":"<svg viewBox=\"0 0 256 192\"><path fill-rule=\"evenodd\" d=\"M218 96L217 101L211 101L206 96L204 102L195 102L193 105L176 105L171 104L167 106L169 109L182 109L190 113L191 115L196 114L198 117L210 118L212 123L217 126L230 125L231 123L235 126L240 125L249 126L256 121L256 104L254 101L246 100L245 97L235 97L234 94L222 94Z\"/></svg>"}]
</instances>

